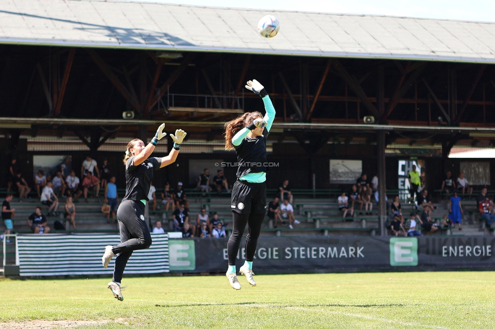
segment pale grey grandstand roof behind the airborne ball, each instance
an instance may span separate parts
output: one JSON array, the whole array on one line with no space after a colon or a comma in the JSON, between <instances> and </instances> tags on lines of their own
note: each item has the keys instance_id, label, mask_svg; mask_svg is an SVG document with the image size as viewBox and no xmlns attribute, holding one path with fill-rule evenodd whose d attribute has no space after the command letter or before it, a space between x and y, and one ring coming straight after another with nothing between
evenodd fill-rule
<instances>
[{"instance_id":1,"label":"pale grey grandstand roof behind the airborne ball","mask_svg":"<svg viewBox=\"0 0 495 329\"><path fill-rule=\"evenodd\" d=\"M495 23L116 1L2 0L0 43L495 63Z\"/></svg>"}]
</instances>

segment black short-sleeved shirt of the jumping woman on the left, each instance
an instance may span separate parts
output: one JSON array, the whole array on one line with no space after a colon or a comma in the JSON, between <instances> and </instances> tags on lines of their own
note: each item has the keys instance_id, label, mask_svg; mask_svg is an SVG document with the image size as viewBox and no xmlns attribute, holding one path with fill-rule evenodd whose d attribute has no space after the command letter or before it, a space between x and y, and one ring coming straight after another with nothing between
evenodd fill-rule
<instances>
[{"instance_id":1,"label":"black short-sleeved shirt of the jumping woman on the left","mask_svg":"<svg viewBox=\"0 0 495 329\"><path fill-rule=\"evenodd\" d=\"M124 200L149 200L148 192L155 170L160 169L162 163L159 157L150 157L139 166L134 166L134 156L131 156L125 164L125 196Z\"/></svg>"}]
</instances>

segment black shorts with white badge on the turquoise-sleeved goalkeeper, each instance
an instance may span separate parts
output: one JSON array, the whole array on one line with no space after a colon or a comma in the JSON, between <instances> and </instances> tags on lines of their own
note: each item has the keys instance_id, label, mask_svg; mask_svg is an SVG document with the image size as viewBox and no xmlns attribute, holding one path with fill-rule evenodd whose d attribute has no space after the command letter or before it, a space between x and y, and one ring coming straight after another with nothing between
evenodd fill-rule
<instances>
[{"instance_id":1,"label":"black shorts with white badge on the turquoise-sleeved goalkeeper","mask_svg":"<svg viewBox=\"0 0 495 329\"><path fill-rule=\"evenodd\" d=\"M235 181L230 208L238 214L266 213L266 184Z\"/></svg>"}]
</instances>

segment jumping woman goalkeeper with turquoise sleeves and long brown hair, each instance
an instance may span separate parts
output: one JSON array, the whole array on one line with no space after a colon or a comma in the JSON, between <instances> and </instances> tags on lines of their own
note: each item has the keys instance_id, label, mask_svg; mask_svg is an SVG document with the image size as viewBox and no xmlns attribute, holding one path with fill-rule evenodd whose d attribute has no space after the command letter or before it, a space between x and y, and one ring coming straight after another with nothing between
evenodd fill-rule
<instances>
[{"instance_id":1,"label":"jumping woman goalkeeper with turquoise sleeves and long brown hair","mask_svg":"<svg viewBox=\"0 0 495 329\"><path fill-rule=\"evenodd\" d=\"M241 288L235 260L246 225L246 259L244 265L239 268L239 273L246 277L249 284L256 286L253 279L253 258L266 213L266 138L275 118L275 108L265 88L257 80L249 80L245 87L260 95L265 104L266 114L263 116L260 112L244 113L225 124L225 148L235 149L238 164L237 181L232 187L230 204L233 228L227 245L229 267L226 273L230 285L235 290Z\"/></svg>"}]
</instances>

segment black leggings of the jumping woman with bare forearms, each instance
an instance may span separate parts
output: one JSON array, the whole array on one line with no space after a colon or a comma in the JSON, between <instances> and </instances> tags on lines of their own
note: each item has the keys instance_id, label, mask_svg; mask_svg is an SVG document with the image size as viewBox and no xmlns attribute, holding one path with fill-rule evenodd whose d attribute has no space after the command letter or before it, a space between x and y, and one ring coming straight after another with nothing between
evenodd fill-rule
<instances>
[{"instance_id":1,"label":"black leggings of the jumping woman with bare forearms","mask_svg":"<svg viewBox=\"0 0 495 329\"><path fill-rule=\"evenodd\" d=\"M125 200L119 205L117 219L120 228L120 243L112 251L119 254L115 260L114 282L122 280L125 265L134 250L148 249L151 246L150 229L145 221L145 205L140 201Z\"/></svg>"}]
</instances>

